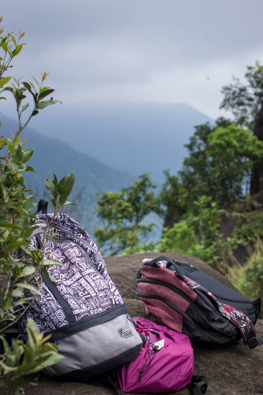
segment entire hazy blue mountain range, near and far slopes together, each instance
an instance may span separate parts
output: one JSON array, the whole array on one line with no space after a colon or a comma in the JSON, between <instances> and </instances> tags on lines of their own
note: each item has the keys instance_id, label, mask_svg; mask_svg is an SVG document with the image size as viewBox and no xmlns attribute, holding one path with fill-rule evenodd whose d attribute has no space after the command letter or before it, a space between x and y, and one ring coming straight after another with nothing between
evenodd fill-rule
<instances>
[{"instance_id":1,"label":"entire hazy blue mountain range, near and far slopes together","mask_svg":"<svg viewBox=\"0 0 263 395\"><path fill-rule=\"evenodd\" d=\"M1 121L1 135L15 133L17 121L0 115ZM28 164L35 173L25 174L26 186L35 190L37 198L45 198L43 179L52 179L52 172L61 179L75 170L69 200L81 191L82 196L73 216L92 234L95 226L101 226L94 211L97 192L117 192L144 172L151 173L151 180L160 188L165 169L175 174L181 168L187 153L184 144L194 125L205 122L213 120L182 103L50 106L46 113L39 111L21 133L22 140L29 139L25 148L34 148ZM146 221L159 223L153 236L157 241L162 221L150 217Z\"/></svg>"}]
</instances>

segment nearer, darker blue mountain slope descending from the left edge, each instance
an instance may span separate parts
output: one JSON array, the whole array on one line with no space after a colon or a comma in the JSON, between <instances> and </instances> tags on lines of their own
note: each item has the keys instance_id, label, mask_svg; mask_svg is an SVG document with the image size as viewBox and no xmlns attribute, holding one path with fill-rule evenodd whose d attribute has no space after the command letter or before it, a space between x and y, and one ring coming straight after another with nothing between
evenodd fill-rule
<instances>
[{"instance_id":1,"label":"nearer, darker blue mountain slope descending from the left edge","mask_svg":"<svg viewBox=\"0 0 263 395\"><path fill-rule=\"evenodd\" d=\"M1 115L0 121L2 122L1 135L11 137L11 133L17 131L18 124L15 120ZM26 139L28 143L24 145L24 149L34 148L34 154L26 164L34 167L35 173L24 172L25 184L27 188L35 190L34 195L38 198L42 198L45 194L43 179L46 177L53 179L52 172L57 175L58 179L61 179L64 175L76 171L76 182L69 200L83 190L81 203L84 207L85 205L88 207L90 202L94 201L97 192L109 190L117 192L130 185L136 178L124 171L107 166L96 158L78 152L74 147L62 141L44 136L30 127L26 127L21 132L21 140Z\"/></svg>"}]
</instances>

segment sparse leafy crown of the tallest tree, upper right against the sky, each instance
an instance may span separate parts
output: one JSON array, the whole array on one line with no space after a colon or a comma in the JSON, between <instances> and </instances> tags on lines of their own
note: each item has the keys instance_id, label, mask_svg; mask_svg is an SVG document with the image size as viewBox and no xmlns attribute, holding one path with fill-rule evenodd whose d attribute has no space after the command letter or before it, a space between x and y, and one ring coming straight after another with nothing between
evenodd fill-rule
<instances>
[{"instance_id":1,"label":"sparse leafy crown of the tallest tree, upper right against the sky","mask_svg":"<svg viewBox=\"0 0 263 395\"><path fill-rule=\"evenodd\" d=\"M253 130L263 102L263 66L259 62L255 66L248 66L244 76L248 81L247 85L233 77L233 83L222 88L224 99L220 108L232 111L239 125Z\"/></svg>"}]
</instances>

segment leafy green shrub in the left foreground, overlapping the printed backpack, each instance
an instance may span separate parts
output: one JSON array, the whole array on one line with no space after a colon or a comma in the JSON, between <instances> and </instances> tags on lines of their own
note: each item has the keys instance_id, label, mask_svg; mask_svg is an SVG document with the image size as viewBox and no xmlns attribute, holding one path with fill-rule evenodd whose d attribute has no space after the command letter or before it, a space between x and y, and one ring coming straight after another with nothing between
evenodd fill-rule
<instances>
[{"instance_id":1,"label":"leafy green shrub in the left foreground, overlapping the printed backpack","mask_svg":"<svg viewBox=\"0 0 263 395\"><path fill-rule=\"evenodd\" d=\"M0 23L1 21L2 18ZM0 34L2 32L3 29L0 30ZM35 216L29 214L36 204L32 202L34 196L26 196L29 191L26 190L23 177L24 172L34 171L31 166L27 166L33 151L24 150L27 141L21 141L20 134L39 109L58 101L53 98L43 101L43 98L54 92L54 89L43 86L47 77L46 72L42 75L41 83L33 77L37 90L31 82L21 83L15 78L15 84L6 86L11 77L2 75L12 67L11 60L21 51L24 44L19 44L19 40L23 36L24 33L19 33L16 40L12 34L8 34L4 38L1 37L0 43L0 50L4 51L4 57L0 57L0 87L5 86L2 92L9 91L13 94L19 120L19 129L11 139L0 137L0 335L4 344L4 354L0 355L0 387L3 391L11 383L23 383L22 375L40 371L61 358L57 354L57 347L47 342L48 337L44 338L43 334L40 334L34 322L28 321L26 344L13 339L13 344L9 348L4 338L11 325L16 323L29 308L30 303L41 295L39 286L43 276L50 277L47 267L58 263L44 259L44 242L41 249L28 248L30 235L39 226L34 225ZM26 95L33 96L32 108L29 103L22 105ZM21 114L26 111L29 111L28 117L22 125ZM70 204L66 199L72 190L75 175L72 173L58 182L54 174L53 188L48 180L46 182L52 193L56 213L66 204ZM43 232L44 240L47 229L44 228ZM24 259L23 256L28 258ZM27 290L33 291L34 296L28 297Z\"/></svg>"}]
</instances>

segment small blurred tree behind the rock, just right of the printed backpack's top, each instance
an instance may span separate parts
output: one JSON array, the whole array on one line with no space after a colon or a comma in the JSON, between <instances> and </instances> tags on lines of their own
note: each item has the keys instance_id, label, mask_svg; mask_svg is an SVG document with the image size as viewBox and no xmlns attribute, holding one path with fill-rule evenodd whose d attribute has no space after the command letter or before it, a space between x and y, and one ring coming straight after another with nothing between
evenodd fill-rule
<instances>
[{"instance_id":1,"label":"small blurred tree behind the rock, just right of the printed backpack's top","mask_svg":"<svg viewBox=\"0 0 263 395\"><path fill-rule=\"evenodd\" d=\"M105 220L104 228L94 229L99 246L110 255L131 248L138 248L140 238L151 232L154 224L144 225L142 220L151 211L159 212L158 200L152 192L155 186L144 173L128 188L121 192L98 194L97 212Z\"/></svg>"}]
</instances>

